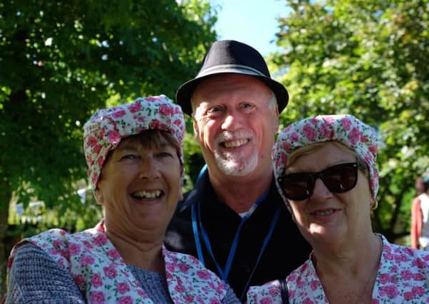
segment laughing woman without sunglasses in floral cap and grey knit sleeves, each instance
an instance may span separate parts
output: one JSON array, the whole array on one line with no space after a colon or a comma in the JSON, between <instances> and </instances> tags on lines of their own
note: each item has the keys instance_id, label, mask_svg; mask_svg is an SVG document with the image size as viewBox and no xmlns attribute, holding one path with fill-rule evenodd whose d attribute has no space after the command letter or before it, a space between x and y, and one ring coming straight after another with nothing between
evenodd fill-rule
<instances>
[{"instance_id":1,"label":"laughing woman without sunglasses in floral cap and grey knit sleeves","mask_svg":"<svg viewBox=\"0 0 429 304\"><path fill-rule=\"evenodd\" d=\"M104 217L17 244L6 303L239 303L196 258L162 245L182 198L184 132L181 108L164 95L96 112L83 141Z\"/></svg>"}]
</instances>

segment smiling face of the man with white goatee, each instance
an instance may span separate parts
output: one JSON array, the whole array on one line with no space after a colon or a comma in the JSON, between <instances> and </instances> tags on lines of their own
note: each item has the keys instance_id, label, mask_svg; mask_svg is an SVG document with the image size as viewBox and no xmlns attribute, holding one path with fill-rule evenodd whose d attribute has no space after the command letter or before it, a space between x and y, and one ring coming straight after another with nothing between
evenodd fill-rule
<instances>
[{"instance_id":1,"label":"smiling face of the man with white goatee","mask_svg":"<svg viewBox=\"0 0 429 304\"><path fill-rule=\"evenodd\" d=\"M211 174L244 177L271 170L279 114L261 80L237 74L203 80L192 108L195 138Z\"/></svg>"}]
</instances>

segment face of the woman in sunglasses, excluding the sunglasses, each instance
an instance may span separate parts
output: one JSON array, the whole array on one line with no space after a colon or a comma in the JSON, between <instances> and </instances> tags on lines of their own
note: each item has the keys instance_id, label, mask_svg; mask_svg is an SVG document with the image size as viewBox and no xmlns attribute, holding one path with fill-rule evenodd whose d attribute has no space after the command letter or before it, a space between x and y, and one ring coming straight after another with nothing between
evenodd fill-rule
<instances>
[{"instance_id":1,"label":"face of the woman in sunglasses, excluding the sunglasses","mask_svg":"<svg viewBox=\"0 0 429 304\"><path fill-rule=\"evenodd\" d=\"M320 172L336 164L356 162L356 155L341 144L326 142L316 150L297 157L286 174ZM363 225L371 227L371 190L368 177L360 169L356 186L340 194L331 192L321 179L316 179L308 199L289 199L301 233L309 241L344 241L358 234Z\"/></svg>"}]
</instances>

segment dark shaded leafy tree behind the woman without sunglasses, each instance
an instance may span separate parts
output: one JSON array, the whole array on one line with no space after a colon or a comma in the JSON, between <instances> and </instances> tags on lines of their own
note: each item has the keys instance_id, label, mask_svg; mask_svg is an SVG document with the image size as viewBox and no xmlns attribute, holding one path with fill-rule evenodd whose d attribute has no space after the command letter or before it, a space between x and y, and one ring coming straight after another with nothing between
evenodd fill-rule
<instances>
[{"instance_id":1,"label":"dark shaded leafy tree behind the woman without sunglasses","mask_svg":"<svg viewBox=\"0 0 429 304\"><path fill-rule=\"evenodd\" d=\"M106 103L173 98L195 75L216 38L215 11L207 1L181 2L0 3L0 295L12 197L55 207L57 224L70 210L94 221L76 194L86 185L83 123Z\"/></svg>"}]
</instances>

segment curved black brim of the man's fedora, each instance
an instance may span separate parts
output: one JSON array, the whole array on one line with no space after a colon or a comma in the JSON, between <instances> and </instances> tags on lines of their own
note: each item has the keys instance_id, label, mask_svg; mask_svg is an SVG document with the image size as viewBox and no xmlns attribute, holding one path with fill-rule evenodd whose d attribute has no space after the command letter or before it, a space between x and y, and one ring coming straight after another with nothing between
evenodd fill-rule
<instances>
[{"instance_id":1,"label":"curved black brim of the man's fedora","mask_svg":"<svg viewBox=\"0 0 429 304\"><path fill-rule=\"evenodd\" d=\"M242 74L242 75L251 75L259 80L262 80L276 95L277 105L279 106L279 112L286 108L287 103L289 103L289 93L286 88L281 83L278 83L276 80L272 80L271 78L267 78L264 75L257 75L248 70L219 70L217 73L210 73L210 75L202 75L200 77L196 77L194 79L188 80L186 83L180 85L180 88L177 89L176 92L176 103L182 107L182 111L187 115L192 115L192 105L191 105L191 97L192 93L194 93L195 88L199 85L202 80L206 80L208 78L212 78L216 75L222 74Z\"/></svg>"}]
</instances>

